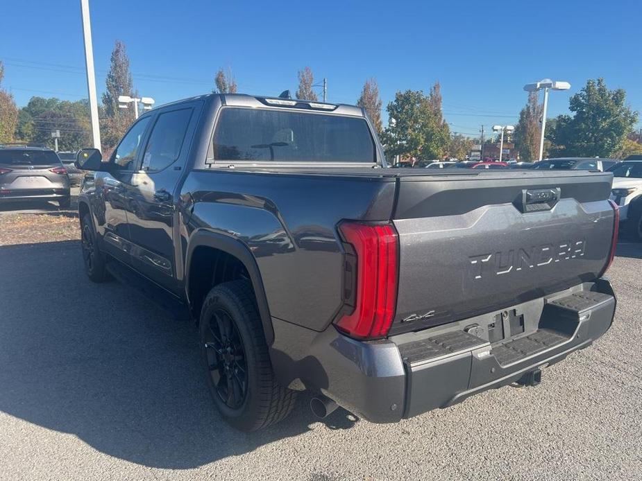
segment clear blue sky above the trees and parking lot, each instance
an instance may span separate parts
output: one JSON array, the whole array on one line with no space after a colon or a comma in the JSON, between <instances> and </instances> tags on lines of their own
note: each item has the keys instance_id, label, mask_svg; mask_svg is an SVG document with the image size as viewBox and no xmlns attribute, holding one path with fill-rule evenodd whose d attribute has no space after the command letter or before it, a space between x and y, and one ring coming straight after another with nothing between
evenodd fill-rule
<instances>
[{"instance_id":1,"label":"clear blue sky above the trees and parking lot","mask_svg":"<svg viewBox=\"0 0 642 481\"><path fill-rule=\"evenodd\" d=\"M642 1L196 1L90 0L99 94L115 40L126 43L135 87L158 103L212 89L219 67L239 91L296 90L310 66L328 101L355 103L378 80L385 105L398 90L441 82L451 130L515 122L527 82L567 80L549 116L588 78L627 90L642 112ZM8 1L0 17L3 87L31 96L87 96L80 1ZM385 114L385 113L384 113Z\"/></svg>"}]
</instances>

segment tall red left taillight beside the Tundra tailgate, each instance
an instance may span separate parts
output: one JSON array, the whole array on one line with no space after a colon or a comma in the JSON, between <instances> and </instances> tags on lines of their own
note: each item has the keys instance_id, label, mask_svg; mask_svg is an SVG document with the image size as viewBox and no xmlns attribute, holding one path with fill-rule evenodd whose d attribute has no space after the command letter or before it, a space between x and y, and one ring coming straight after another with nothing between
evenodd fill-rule
<instances>
[{"instance_id":1,"label":"tall red left taillight beside the Tundra tailgate","mask_svg":"<svg viewBox=\"0 0 642 481\"><path fill-rule=\"evenodd\" d=\"M342 222L339 231L355 251L356 276L346 277L353 284L346 290L353 291L354 310L343 315L337 327L355 338L382 338L397 301L397 231L391 224L360 222Z\"/></svg>"}]
</instances>

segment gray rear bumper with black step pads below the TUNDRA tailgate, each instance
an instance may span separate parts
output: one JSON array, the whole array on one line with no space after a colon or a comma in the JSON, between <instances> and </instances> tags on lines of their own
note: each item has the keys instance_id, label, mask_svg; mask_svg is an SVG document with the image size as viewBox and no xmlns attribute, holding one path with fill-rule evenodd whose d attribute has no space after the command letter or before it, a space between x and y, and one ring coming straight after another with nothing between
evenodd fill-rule
<instances>
[{"instance_id":1,"label":"gray rear bumper with black step pads below the TUNDRA tailgate","mask_svg":"<svg viewBox=\"0 0 642 481\"><path fill-rule=\"evenodd\" d=\"M615 306L609 281L600 279L513 306L509 311L531 318L524 317L524 332L492 344L488 329L484 331L496 319L492 313L378 342L346 338L330 326L317 333L301 360L284 363L276 356L273 363L277 375L289 369L306 387L368 421L396 422L512 384L525 373L559 362L600 338L611 326ZM514 329L508 318L503 324ZM478 327L466 332L466 326Z\"/></svg>"}]
</instances>

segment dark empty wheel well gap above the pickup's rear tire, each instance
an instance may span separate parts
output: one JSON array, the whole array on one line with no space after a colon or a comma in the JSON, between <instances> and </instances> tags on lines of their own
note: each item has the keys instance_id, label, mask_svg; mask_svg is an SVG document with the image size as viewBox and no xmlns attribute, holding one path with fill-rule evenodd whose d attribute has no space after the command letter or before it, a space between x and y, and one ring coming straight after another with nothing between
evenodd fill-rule
<instances>
[{"instance_id":1,"label":"dark empty wheel well gap above the pickup's rear tire","mask_svg":"<svg viewBox=\"0 0 642 481\"><path fill-rule=\"evenodd\" d=\"M242 261L214 247L196 247L189 266L189 306L194 319L201 316L203 299L214 286L237 279L250 279Z\"/></svg>"}]
</instances>

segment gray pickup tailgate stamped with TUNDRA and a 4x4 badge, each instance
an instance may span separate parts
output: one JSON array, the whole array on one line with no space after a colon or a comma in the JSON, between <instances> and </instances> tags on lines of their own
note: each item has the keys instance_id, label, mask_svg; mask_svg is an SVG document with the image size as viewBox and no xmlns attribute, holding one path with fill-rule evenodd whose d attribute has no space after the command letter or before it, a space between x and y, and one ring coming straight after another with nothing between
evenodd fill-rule
<instances>
[{"instance_id":1,"label":"gray pickup tailgate stamped with TUNDRA and a 4x4 badge","mask_svg":"<svg viewBox=\"0 0 642 481\"><path fill-rule=\"evenodd\" d=\"M610 173L398 177L398 299L390 333L497 311L605 270Z\"/></svg>"}]
</instances>

